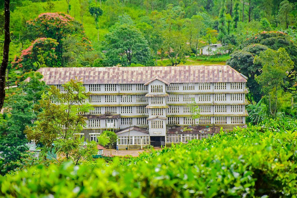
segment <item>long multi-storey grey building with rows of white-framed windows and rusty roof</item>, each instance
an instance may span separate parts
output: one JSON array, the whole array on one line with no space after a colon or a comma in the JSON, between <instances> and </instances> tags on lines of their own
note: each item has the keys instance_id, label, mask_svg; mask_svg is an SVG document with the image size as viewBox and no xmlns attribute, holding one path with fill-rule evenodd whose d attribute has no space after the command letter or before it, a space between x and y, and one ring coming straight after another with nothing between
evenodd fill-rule
<instances>
[{"instance_id":1,"label":"long multi-storey grey building with rows of white-framed windows and rusty roof","mask_svg":"<svg viewBox=\"0 0 297 198\"><path fill-rule=\"evenodd\" d=\"M220 127L245 127L246 77L230 66L40 68L48 85L82 79L94 106L81 135L114 130L120 148L201 139ZM192 125L189 104L199 118ZM190 130L184 130L185 127Z\"/></svg>"}]
</instances>

